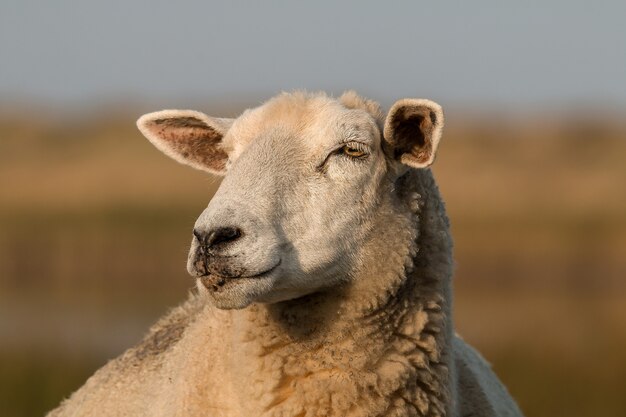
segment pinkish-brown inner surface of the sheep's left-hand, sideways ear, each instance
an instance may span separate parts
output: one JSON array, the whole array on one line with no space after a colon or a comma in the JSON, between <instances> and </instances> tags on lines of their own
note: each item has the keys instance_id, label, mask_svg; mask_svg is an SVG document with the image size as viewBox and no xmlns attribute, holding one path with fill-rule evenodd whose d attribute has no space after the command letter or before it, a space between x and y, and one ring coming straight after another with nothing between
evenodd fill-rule
<instances>
[{"instance_id":1,"label":"pinkish-brown inner surface of the sheep's left-hand, sideways ear","mask_svg":"<svg viewBox=\"0 0 626 417\"><path fill-rule=\"evenodd\" d=\"M147 128L182 162L196 168L224 171L228 155L220 146L222 134L203 120L192 116L161 118L151 121Z\"/></svg>"}]
</instances>

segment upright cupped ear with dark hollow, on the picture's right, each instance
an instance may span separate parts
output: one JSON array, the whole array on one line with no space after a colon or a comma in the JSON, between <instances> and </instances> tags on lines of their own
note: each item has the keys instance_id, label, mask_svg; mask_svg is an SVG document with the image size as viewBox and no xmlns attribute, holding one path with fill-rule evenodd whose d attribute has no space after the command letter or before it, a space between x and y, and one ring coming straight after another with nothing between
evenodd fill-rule
<instances>
[{"instance_id":1,"label":"upright cupped ear with dark hollow, on the picture's right","mask_svg":"<svg viewBox=\"0 0 626 417\"><path fill-rule=\"evenodd\" d=\"M406 98L389 110L383 131L388 157L412 168L435 160L443 129L443 110L434 101Z\"/></svg>"}]
</instances>

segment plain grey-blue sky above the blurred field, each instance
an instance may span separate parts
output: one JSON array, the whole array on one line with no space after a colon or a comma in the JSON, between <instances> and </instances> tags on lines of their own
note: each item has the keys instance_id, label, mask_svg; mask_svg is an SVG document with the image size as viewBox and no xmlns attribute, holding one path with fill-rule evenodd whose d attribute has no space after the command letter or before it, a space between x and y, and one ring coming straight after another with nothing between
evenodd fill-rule
<instances>
[{"instance_id":1,"label":"plain grey-blue sky above the blurred field","mask_svg":"<svg viewBox=\"0 0 626 417\"><path fill-rule=\"evenodd\" d=\"M0 102L356 89L626 106L625 19L624 1L3 0Z\"/></svg>"}]
</instances>

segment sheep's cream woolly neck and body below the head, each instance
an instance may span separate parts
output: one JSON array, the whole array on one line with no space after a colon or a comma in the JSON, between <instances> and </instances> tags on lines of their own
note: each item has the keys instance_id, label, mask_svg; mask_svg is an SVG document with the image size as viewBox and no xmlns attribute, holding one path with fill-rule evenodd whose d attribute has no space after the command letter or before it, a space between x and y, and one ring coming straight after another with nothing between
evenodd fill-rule
<instances>
[{"instance_id":1,"label":"sheep's cream woolly neck and body below the head","mask_svg":"<svg viewBox=\"0 0 626 417\"><path fill-rule=\"evenodd\" d=\"M49 416L521 415L453 335L432 174L409 171L397 195L405 215L375 229L352 284L244 310L192 295Z\"/></svg>"}]
</instances>

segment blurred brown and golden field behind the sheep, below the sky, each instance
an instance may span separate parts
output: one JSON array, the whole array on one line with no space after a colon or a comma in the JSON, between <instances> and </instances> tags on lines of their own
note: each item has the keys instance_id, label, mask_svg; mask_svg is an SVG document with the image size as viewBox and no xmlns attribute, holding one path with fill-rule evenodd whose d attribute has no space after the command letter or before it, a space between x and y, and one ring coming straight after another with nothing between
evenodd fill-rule
<instances>
[{"instance_id":1,"label":"blurred brown and golden field behind the sheep, below the sky","mask_svg":"<svg viewBox=\"0 0 626 417\"><path fill-rule=\"evenodd\" d=\"M137 114L0 117L0 415L36 416L193 286L191 226L217 180ZM448 114L434 171L459 333L528 416L626 414L626 124Z\"/></svg>"}]
</instances>

